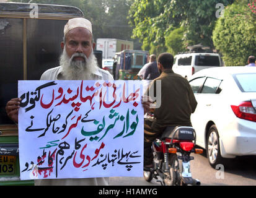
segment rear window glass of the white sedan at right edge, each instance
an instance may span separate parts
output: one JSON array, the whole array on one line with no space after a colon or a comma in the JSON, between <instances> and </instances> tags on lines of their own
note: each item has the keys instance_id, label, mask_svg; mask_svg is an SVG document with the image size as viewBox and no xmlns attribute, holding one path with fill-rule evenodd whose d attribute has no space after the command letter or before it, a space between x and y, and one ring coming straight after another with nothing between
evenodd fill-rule
<instances>
[{"instance_id":1,"label":"rear window glass of the white sedan at right edge","mask_svg":"<svg viewBox=\"0 0 256 198\"><path fill-rule=\"evenodd\" d=\"M256 92L256 73L235 74L234 79L242 92Z\"/></svg>"}]
</instances>

